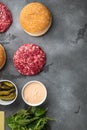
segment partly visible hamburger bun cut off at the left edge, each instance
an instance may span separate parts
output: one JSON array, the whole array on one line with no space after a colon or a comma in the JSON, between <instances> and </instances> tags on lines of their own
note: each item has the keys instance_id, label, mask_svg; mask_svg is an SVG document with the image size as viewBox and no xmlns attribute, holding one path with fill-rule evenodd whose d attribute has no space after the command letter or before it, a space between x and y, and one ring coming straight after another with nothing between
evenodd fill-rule
<instances>
[{"instance_id":1,"label":"partly visible hamburger bun cut off at the left edge","mask_svg":"<svg viewBox=\"0 0 87 130\"><path fill-rule=\"evenodd\" d=\"M4 47L0 44L0 69L3 68L6 62L6 53Z\"/></svg>"}]
</instances>

